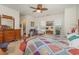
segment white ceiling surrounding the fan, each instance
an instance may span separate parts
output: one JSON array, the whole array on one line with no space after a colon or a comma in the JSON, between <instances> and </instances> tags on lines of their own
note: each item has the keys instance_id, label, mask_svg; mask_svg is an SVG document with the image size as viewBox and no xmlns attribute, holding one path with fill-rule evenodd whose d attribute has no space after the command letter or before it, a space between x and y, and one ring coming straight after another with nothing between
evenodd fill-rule
<instances>
[{"instance_id":1,"label":"white ceiling surrounding the fan","mask_svg":"<svg viewBox=\"0 0 79 59\"><path fill-rule=\"evenodd\" d=\"M43 6L45 8L48 8L48 10L44 11L43 13L37 13L33 12L34 9L30 8L30 6L36 7L37 6L36 4L3 4L3 5L20 11L20 14L22 16L24 15L35 16L40 14L41 16L49 16L53 14L63 13L66 7L76 6L76 4L43 4Z\"/></svg>"}]
</instances>

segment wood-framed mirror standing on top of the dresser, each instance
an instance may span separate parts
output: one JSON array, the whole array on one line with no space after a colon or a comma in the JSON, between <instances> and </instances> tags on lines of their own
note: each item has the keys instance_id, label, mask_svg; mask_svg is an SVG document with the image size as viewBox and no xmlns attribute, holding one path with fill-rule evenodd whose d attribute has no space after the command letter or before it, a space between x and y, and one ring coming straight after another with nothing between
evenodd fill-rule
<instances>
[{"instance_id":1,"label":"wood-framed mirror standing on top of the dresser","mask_svg":"<svg viewBox=\"0 0 79 59\"><path fill-rule=\"evenodd\" d=\"M2 15L0 16L0 25L5 29L14 29L15 22L12 16Z\"/></svg>"}]
</instances>

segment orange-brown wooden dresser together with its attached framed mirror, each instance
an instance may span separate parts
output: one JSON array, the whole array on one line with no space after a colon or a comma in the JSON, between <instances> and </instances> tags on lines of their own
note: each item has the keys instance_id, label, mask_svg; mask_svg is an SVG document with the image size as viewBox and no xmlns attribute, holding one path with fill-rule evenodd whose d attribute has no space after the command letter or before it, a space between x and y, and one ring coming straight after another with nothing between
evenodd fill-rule
<instances>
[{"instance_id":1,"label":"orange-brown wooden dresser together with its attached framed mirror","mask_svg":"<svg viewBox=\"0 0 79 59\"><path fill-rule=\"evenodd\" d=\"M0 42L11 42L21 39L21 30L15 29L15 18L0 15Z\"/></svg>"}]
</instances>

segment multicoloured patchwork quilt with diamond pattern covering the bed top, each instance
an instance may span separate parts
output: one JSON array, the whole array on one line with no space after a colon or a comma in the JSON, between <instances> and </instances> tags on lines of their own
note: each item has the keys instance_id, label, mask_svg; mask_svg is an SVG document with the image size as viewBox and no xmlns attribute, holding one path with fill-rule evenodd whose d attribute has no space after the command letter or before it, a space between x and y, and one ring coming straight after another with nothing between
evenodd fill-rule
<instances>
[{"instance_id":1,"label":"multicoloured patchwork quilt with diamond pattern covering the bed top","mask_svg":"<svg viewBox=\"0 0 79 59\"><path fill-rule=\"evenodd\" d=\"M64 39L57 38L49 36L31 38L24 55L79 55L79 49L71 48Z\"/></svg>"}]
</instances>

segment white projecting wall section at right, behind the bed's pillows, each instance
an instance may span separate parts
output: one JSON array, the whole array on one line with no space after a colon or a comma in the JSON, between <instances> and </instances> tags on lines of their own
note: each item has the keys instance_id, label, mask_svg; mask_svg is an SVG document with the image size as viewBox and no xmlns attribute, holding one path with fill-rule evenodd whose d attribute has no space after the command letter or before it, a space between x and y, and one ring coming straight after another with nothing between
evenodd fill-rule
<instances>
[{"instance_id":1,"label":"white projecting wall section at right, behind the bed's pillows","mask_svg":"<svg viewBox=\"0 0 79 59\"><path fill-rule=\"evenodd\" d=\"M64 13L64 32L71 33L71 29L77 26L77 8L65 8Z\"/></svg>"}]
</instances>

